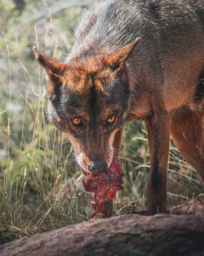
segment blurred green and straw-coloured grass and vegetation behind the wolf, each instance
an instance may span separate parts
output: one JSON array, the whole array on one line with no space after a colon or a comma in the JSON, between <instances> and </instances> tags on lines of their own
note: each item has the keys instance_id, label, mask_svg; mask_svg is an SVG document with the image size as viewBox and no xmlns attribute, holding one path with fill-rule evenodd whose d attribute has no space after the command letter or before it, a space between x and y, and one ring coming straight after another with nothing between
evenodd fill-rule
<instances>
[{"instance_id":1,"label":"blurred green and straw-coloured grass and vegetation behind the wolf","mask_svg":"<svg viewBox=\"0 0 204 256\"><path fill-rule=\"evenodd\" d=\"M47 82L33 45L64 61L84 8L97 1L2 0L0 2L0 243L82 222L91 216L91 195L64 134L47 122ZM145 208L149 173L144 124L127 124L120 163L124 191L115 213ZM170 204L195 200L200 177L171 145Z\"/></svg>"}]
</instances>

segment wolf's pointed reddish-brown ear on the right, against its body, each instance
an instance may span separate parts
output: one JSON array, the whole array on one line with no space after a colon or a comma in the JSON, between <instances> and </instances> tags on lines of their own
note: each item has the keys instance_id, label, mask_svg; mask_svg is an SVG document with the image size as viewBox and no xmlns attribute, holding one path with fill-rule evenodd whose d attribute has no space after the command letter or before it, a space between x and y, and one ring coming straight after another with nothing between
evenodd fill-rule
<instances>
[{"instance_id":1,"label":"wolf's pointed reddish-brown ear on the right, against its body","mask_svg":"<svg viewBox=\"0 0 204 256\"><path fill-rule=\"evenodd\" d=\"M119 48L116 52L111 53L109 56L104 56L104 61L114 70L123 70L126 60L139 40L140 38L135 38L131 43Z\"/></svg>"}]
</instances>

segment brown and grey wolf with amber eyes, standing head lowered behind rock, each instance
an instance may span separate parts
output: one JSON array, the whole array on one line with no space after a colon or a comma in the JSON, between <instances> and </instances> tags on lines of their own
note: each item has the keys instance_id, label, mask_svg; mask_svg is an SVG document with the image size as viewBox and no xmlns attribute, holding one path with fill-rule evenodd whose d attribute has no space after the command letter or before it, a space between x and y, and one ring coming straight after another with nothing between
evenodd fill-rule
<instances>
[{"instance_id":1,"label":"brown and grey wolf with amber eyes, standing head lowered behind rock","mask_svg":"<svg viewBox=\"0 0 204 256\"><path fill-rule=\"evenodd\" d=\"M47 112L84 173L118 159L122 128L147 124L148 210L166 213L170 137L204 180L202 0L107 0L82 16L60 62L33 47L47 72Z\"/></svg>"}]
</instances>

